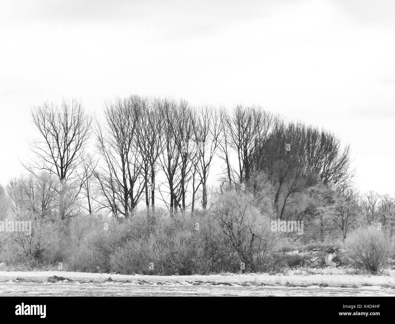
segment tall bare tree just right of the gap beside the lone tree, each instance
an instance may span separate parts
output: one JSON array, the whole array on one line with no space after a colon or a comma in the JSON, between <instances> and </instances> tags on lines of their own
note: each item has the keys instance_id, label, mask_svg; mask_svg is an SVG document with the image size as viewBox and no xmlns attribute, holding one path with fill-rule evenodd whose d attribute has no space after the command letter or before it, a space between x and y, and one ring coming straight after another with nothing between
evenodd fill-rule
<instances>
[{"instance_id":1,"label":"tall bare tree just right of the gap beside the lone tree","mask_svg":"<svg viewBox=\"0 0 395 324\"><path fill-rule=\"evenodd\" d=\"M98 123L96 129L97 148L103 165L95 171L95 176L105 197L105 207L113 216L128 218L146 186L141 177L142 157L135 145L141 98L117 99L105 105L104 114L105 126Z\"/></svg>"}]
</instances>

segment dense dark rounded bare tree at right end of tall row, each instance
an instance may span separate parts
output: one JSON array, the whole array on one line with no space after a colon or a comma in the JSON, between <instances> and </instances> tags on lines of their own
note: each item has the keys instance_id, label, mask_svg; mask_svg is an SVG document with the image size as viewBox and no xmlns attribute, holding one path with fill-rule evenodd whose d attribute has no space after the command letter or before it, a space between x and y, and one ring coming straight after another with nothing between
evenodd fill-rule
<instances>
[{"instance_id":1,"label":"dense dark rounded bare tree at right end of tall row","mask_svg":"<svg viewBox=\"0 0 395 324\"><path fill-rule=\"evenodd\" d=\"M349 151L340 150L337 138L300 122L285 123L279 117L269 120L273 121L267 128L270 131L263 133L263 140L254 149L256 163L252 165L257 176L263 172L271 182L273 204L279 218L300 205L301 193L318 182L325 185L340 182L340 193L349 186L352 178ZM254 191L257 190L259 187L254 183ZM310 208L305 210L308 213Z\"/></svg>"}]
</instances>

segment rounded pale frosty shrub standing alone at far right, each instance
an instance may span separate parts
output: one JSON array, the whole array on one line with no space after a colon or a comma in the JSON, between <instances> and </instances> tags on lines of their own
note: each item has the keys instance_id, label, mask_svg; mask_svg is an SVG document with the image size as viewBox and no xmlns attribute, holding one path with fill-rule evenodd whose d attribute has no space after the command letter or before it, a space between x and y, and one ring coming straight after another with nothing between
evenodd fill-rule
<instances>
[{"instance_id":1,"label":"rounded pale frosty shrub standing alone at far right","mask_svg":"<svg viewBox=\"0 0 395 324\"><path fill-rule=\"evenodd\" d=\"M364 227L347 237L344 248L354 267L378 272L387 265L391 243L382 231L375 227Z\"/></svg>"}]
</instances>

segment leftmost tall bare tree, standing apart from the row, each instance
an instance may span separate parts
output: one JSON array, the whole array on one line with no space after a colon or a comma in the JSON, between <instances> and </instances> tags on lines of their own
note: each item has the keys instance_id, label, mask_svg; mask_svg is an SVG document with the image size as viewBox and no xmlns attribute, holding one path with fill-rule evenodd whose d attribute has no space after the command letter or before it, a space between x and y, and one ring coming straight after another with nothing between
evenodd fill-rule
<instances>
[{"instance_id":1,"label":"leftmost tall bare tree, standing apart from the row","mask_svg":"<svg viewBox=\"0 0 395 324\"><path fill-rule=\"evenodd\" d=\"M59 214L65 214L64 195L66 181L76 180L76 170L81 163L81 153L90 138L92 117L88 116L80 101L63 100L60 108L55 104L44 103L31 110L34 125L41 134L40 140L30 145L30 150L38 157L28 166L48 171L59 178Z\"/></svg>"}]
</instances>

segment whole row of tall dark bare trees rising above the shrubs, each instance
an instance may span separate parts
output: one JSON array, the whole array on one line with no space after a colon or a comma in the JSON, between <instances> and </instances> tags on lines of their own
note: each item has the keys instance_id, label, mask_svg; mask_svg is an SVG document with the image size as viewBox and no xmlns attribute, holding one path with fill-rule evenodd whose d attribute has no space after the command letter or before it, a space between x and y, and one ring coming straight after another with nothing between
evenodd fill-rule
<instances>
[{"instance_id":1,"label":"whole row of tall dark bare trees rising above the shrubs","mask_svg":"<svg viewBox=\"0 0 395 324\"><path fill-rule=\"evenodd\" d=\"M102 118L77 100L45 103L31 114L40 136L25 167L58 179L51 208L62 220L83 210L128 218L158 201L171 213L206 209L213 180L220 191L249 191L258 201L269 186L275 214L285 218L308 188L322 183L343 191L353 175L349 148L333 134L259 106L229 111L133 95L106 102Z\"/></svg>"}]
</instances>

